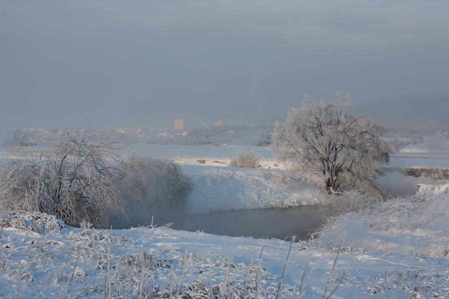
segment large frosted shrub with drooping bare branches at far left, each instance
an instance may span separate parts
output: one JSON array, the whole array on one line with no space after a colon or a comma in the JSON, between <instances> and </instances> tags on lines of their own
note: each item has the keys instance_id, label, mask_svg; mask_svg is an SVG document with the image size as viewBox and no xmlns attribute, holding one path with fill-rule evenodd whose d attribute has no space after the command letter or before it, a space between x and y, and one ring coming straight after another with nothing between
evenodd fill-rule
<instances>
[{"instance_id":1,"label":"large frosted shrub with drooping bare branches at far left","mask_svg":"<svg viewBox=\"0 0 449 299\"><path fill-rule=\"evenodd\" d=\"M123 215L111 161L119 161L121 142L100 138L48 137L46 150L20 149L16 159L0 165L0 206L7 211L39 211L70 226L84 220L95 227L107 225L111 215Z\"/></svg>"}]
</instances>

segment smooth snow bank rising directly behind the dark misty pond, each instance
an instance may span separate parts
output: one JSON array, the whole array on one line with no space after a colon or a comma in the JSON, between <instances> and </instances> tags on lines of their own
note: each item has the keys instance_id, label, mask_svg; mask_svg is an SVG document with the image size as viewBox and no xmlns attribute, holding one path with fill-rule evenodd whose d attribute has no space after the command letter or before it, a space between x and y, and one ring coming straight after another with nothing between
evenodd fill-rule
<instances>
[{"instance_id":1,"label":"smooth snow bank rising directly behind the dark misty pond","mask_svg":"<svg viewBox=\"0 0 449 299\"><path fill-rule=\"evenodd\" d=\"M192 201L189 213L193 215L313 205L325 196L321 189L298 186L278 171L192 165L183 165L183 169L195 185L189 197Z\"/></svg>"}]
</instances>

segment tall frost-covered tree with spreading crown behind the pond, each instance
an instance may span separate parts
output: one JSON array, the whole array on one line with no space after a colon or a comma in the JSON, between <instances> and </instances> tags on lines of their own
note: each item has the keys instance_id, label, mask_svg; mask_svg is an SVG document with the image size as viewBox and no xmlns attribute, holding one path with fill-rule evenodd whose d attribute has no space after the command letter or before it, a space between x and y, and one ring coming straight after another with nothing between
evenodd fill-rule
<instances>
[{"instance_id":1,"label":"tall frost-covered tree with spreading crown behind the pond","mask_svg":"<svg viewBox=\"0 0 449 299\"><path fill-rule=\"evenodd\" d=\"M314 102L308 95L300 109L287 111L284 124L275 124L271 149L306 182L328 193L356 189L372 197L388 192L377 183L379 165L390 161L392 149L381 139L382 124L348 114L349 93L335 101Z\"/></svg>"}]
</instances>

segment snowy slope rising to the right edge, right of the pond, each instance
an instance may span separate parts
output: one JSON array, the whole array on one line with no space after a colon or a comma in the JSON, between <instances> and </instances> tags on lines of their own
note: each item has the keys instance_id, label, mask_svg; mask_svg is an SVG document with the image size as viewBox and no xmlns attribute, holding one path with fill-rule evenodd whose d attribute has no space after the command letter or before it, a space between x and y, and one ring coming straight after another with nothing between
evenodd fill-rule
<instances>
[{"instance_id":1,"label":"snowy slope rising to the right edge, right of the pond","mask_svg":"<svg viewBox=\"0 0 449 299\"><path fill-rule=\"evenodd\" d=\"M324 243L420 258L449 253L449 183L419 185L414 196L380 202L337 218L319 233Z\"/></svg>"}]
</instances>

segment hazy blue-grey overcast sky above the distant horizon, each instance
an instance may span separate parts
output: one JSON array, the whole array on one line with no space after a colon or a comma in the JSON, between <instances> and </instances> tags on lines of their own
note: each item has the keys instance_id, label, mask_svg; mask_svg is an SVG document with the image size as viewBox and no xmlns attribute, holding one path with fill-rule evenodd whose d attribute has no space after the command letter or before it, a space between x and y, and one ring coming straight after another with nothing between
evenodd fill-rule
<instances>
[{"instance_id":1,"label":"hazy blue-grey overcast sky above the distant horizon","mask_svg":"<svg viewBox=\"0 0 449 299\"><path fill-rule=\"evenodd\" d=\"M0 130L284 122L349 91L449 125L449 1L0 1Z\"/></svg>"}]
</instances>

